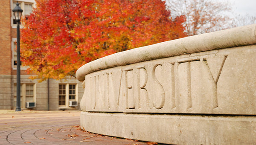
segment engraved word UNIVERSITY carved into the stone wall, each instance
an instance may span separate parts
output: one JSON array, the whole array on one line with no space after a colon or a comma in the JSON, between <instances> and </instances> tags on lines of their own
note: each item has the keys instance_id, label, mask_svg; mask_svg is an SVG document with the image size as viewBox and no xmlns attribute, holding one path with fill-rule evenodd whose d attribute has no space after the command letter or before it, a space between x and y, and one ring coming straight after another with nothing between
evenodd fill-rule
<instances>
[{"instance_id":1,"label":"engraved word UNIVERSITY carved into the stone wall","mask_svg":"<svg viewBox=\"0 0 256 145\"><path fill-rule=\"evenodd\" d=\"M207 55L102 70L87 79L90 108L160 113L194 113L204 108L211 113L218 109L217 83L226 58Z\"/></svg>"}]
</instances>

